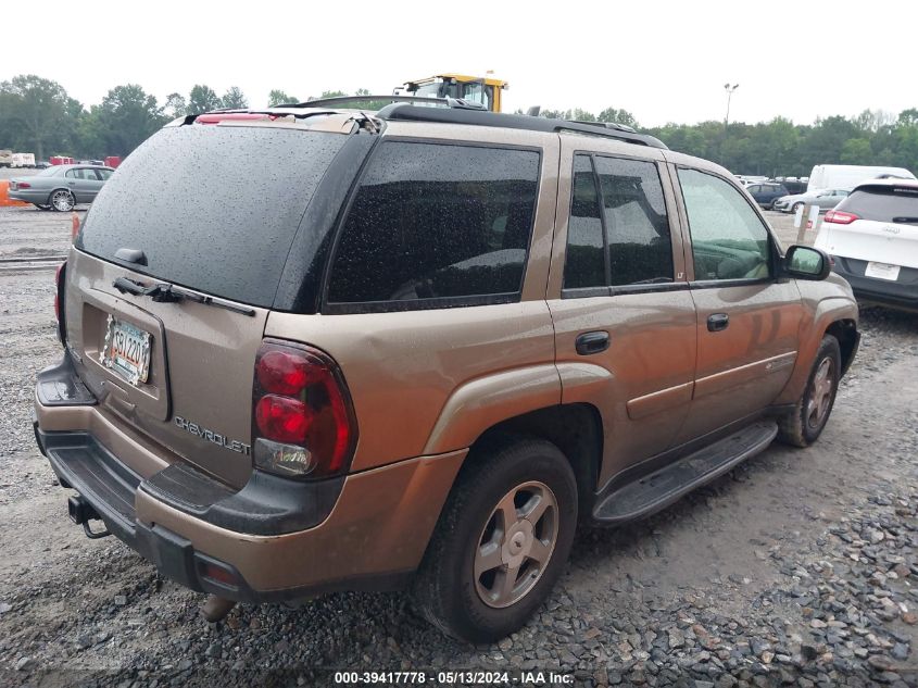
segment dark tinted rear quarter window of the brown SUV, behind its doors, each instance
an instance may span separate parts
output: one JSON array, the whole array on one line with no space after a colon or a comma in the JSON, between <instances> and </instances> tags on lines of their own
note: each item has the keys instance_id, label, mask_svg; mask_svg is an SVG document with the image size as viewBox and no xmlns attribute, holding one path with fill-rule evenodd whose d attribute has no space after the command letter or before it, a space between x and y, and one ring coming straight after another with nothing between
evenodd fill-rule
<instances>
[{"instance_id":1,"label":"dark tinted rear quarter window of the brown SUV, behind its doors","mask_svg":"<svg viewBox=\"0 0 918 688\"><path fill-rule=\"evenodd\" d=\"M326 312L518 300L539 160L530 150L385 142L344 221Z\"/></svg>"}]
</instances>

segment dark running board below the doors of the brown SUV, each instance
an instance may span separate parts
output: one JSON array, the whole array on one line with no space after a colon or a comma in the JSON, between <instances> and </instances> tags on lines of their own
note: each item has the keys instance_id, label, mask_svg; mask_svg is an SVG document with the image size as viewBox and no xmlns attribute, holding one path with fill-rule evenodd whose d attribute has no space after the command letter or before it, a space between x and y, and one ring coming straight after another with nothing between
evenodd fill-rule
<instances>
[{"instance_id":1,"label":"dark running board below the doors of the brown SUV","mask_svg":"<svg viewBox=\"0 0 918 688\"><path fill-rule=\"evenodd\" d=\"M617 525L649 516L765 450L777 435L774 421L749 425L603 497L593 509L593 520Z\"/></svg>"}]
</instances>

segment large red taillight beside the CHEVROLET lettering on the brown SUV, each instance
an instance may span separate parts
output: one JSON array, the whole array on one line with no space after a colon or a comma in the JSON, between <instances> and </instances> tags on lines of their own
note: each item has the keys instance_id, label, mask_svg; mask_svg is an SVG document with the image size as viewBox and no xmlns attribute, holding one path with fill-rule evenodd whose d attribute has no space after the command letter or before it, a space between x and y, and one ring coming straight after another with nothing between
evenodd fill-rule
<instances>
[{"instance_id":1,"label":"large red taillight beside the CHEVROLET lettering on the brown SUV","mask_svg":"<svg viewBox=\"0 0 918 688\"><path fill-rule=\"evenodd\" d=\"M325 353L265 340L255 358L252 403L257 468L293 478L347 471L356 420L344 378Z\"/></svg>"}]
</instances>

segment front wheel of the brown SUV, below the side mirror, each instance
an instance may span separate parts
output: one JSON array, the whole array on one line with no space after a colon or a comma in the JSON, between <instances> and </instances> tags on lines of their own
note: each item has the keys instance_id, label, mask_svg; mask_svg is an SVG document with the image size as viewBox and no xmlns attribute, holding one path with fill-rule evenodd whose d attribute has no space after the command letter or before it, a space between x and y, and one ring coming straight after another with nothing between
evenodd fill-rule
<instances>
[{"instance_id":1,"label":"front wheel of the brown SUV, below the side mirror","mask_svg":"<svg viewBox=\"0 0 918 688\"><path fill-rule=\"evenodd\" d=\"M793 413L778 424L778 439L792 447L809 447L819 439L839 391L842 353L832 335L822 337L803 397Z\"/></svg>"}]
</instances>

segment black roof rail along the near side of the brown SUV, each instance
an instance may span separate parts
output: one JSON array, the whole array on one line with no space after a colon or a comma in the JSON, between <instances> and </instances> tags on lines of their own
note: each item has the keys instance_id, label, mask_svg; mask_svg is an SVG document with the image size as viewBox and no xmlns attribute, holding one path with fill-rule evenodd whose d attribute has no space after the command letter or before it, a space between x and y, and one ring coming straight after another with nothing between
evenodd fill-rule
<instances>
[{"instance_id":1,"label":"black roof rail along the near side of the brown SUV","mask_svg":"<svg viewBox=\"0 0 918 688\"><path fill-rule=\"evenodd\" d=\"M432 100L432 99L430 99ZM588 136L614 138L627 143L650 146L665 149L666 145L647 134L638 134L631 127L603 122L570 122L568 120L549 120L530 115L501 114L498 112L463 110L455 108L418 108L410 102L386 105L378 113L380 120L402 122L439 122L443 124L470 124L506 129L529 129L531 132L570 132Z\"/></svg>"}]
</instances>

